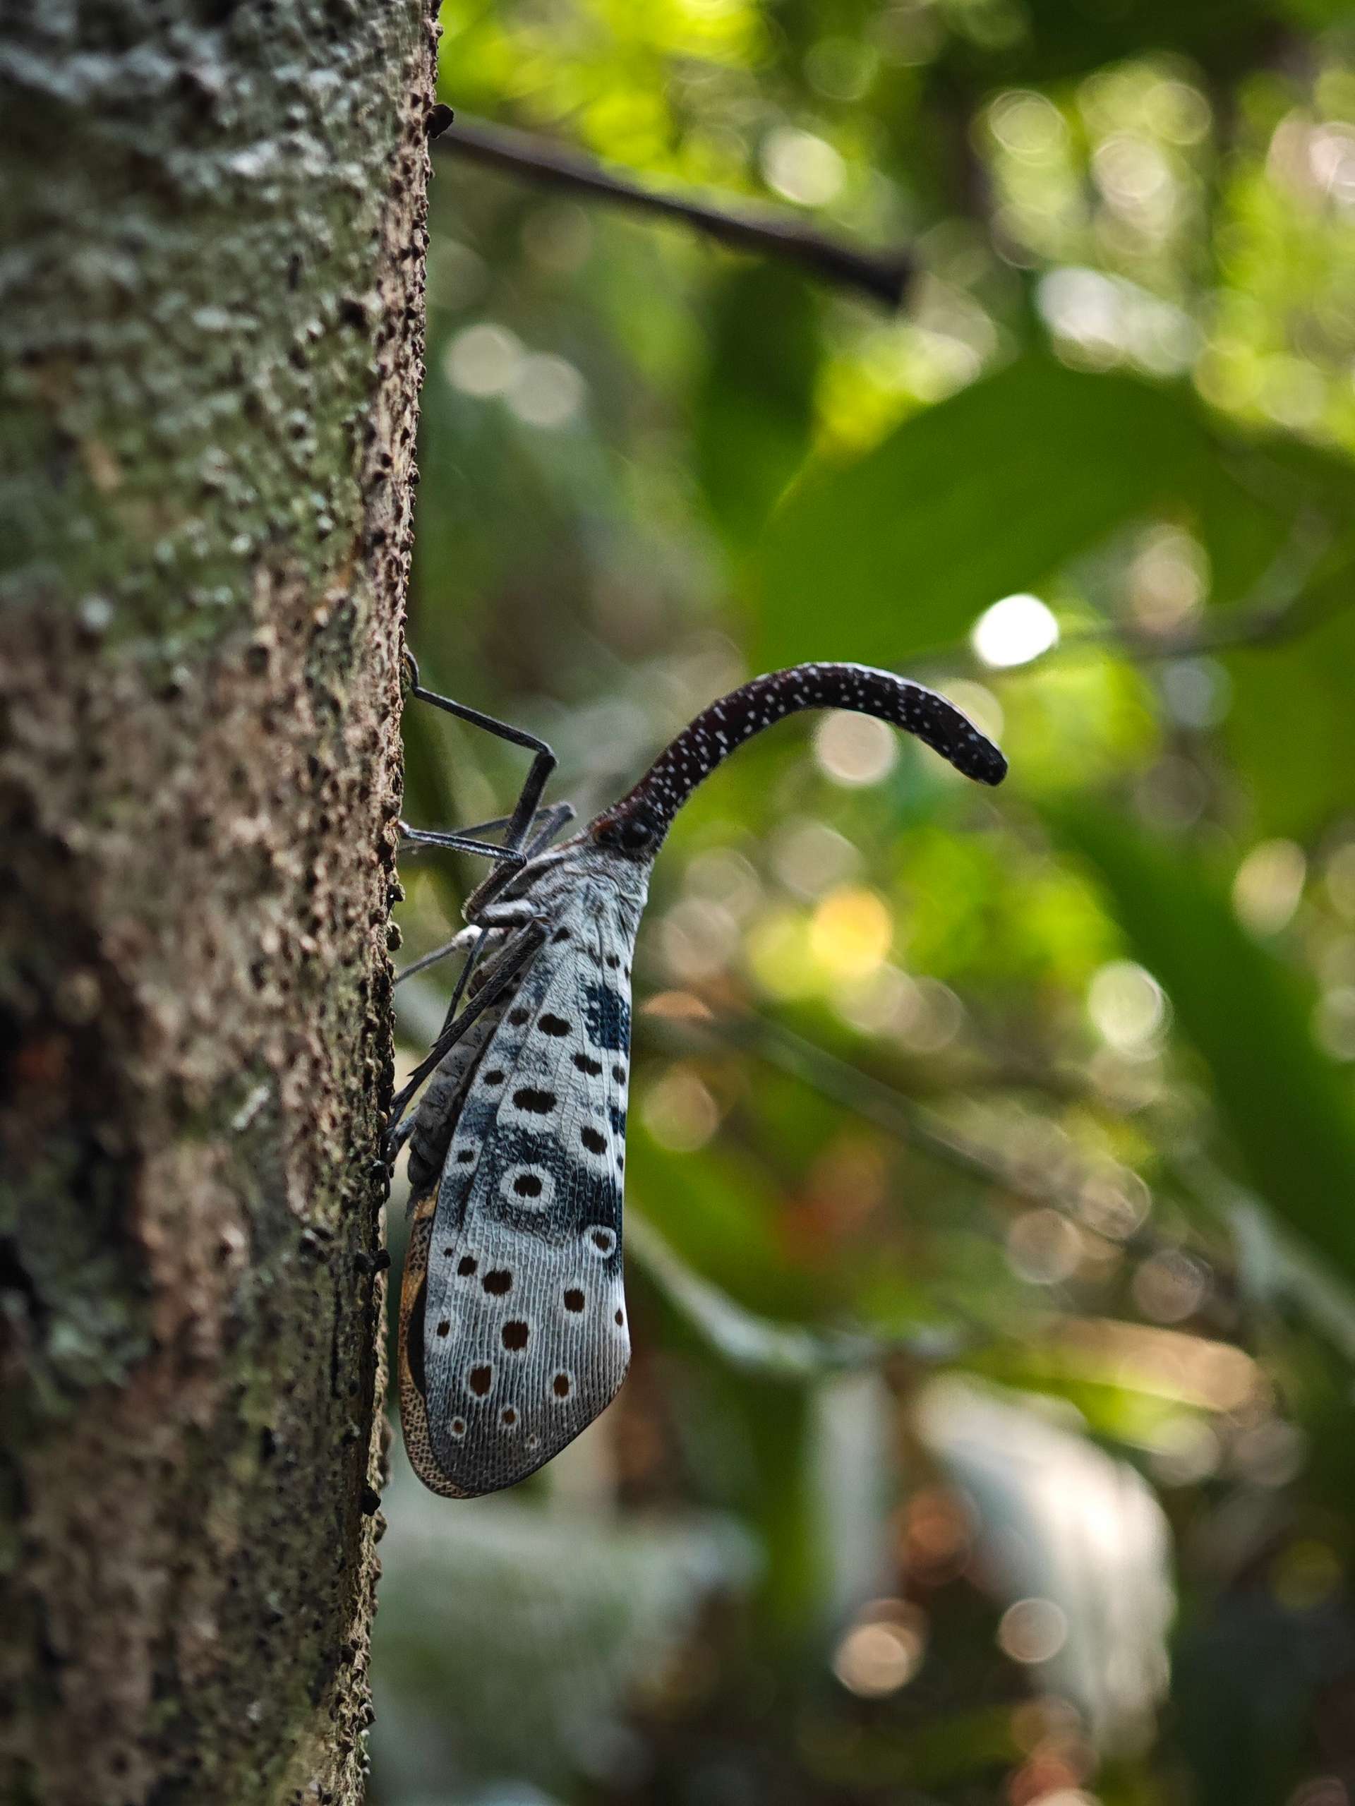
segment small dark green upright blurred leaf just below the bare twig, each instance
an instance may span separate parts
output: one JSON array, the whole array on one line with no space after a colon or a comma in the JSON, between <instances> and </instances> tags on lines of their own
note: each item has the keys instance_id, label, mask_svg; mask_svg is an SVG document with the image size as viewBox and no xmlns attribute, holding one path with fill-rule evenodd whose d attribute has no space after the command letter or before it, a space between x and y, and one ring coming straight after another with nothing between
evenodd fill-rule
<instances>
[{"instance_id":1,"label":"small dark green upright blurred leaf just below the bare twig","mask_svg":"<svg viewBox=\"0 0 1355 1806\"><path fill-rule=\"evenodd\" d=\"M804 457L817 368L808 284L771 264L743 264L717 284L696 392L694 468L735 542L759 531Z\"/></svg>"}]
</instances>

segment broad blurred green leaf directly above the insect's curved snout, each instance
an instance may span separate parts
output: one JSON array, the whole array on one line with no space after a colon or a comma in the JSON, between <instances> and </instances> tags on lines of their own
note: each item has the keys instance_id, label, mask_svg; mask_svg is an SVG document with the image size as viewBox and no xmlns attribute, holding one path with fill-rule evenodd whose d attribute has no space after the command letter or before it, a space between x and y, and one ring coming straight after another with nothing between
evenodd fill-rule
<instances>
[{"instance_id":1,"label":"broad blurred green leaf directly above the insect's curved snout","mask_svg":"<svg viewBox=\"0 0 1355 1806\"><path fill-rule=\"evenodd\" d=\"M945 645L1210 457L1187 390L1024 358L782 498L753 558L761 657L898 665Z\"/></svg>"}]
</instances>

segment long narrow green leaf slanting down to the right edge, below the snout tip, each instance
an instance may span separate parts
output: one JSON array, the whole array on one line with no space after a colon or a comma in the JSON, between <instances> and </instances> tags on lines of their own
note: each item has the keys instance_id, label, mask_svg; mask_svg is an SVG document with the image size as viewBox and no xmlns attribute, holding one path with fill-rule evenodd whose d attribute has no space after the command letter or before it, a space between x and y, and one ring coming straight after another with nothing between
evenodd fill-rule
<instances>
[{"instance_id":1,"label":"long narrow green leaf slanting down to the right edge, below the snout tip","mask_svg":"<svg viewBox=\"0 0 1355 1806\"><path fill-rule=\"evenodd\" d=\"M1239 926L1225 883L1109 809L1050 811L1214 1076L1250 1185L1355 1279L1355 1109L1310 1033L1312 988Z\"/></svg>"}]
</instances>

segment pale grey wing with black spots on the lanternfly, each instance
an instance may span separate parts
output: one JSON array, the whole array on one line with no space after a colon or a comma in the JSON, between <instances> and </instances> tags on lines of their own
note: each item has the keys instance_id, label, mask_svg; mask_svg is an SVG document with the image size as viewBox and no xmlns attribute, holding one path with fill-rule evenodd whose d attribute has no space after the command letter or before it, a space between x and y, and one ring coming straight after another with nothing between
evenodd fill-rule
<instances>
[{"instance_id":1,"label":"pale grey wing with black spots on the lanternfly","mask_svg":"<svg viewBox=\"0 0 1355 1806\"><path fill-rule=\"evenodd\" d=\"M466 1087L421 1326L439 1490L468 1497L526 1479L625 1378L631 948L616 899L580 887ZM408 1329L419 1335L417 1320Z\"/></svg>"}]
</instances>

